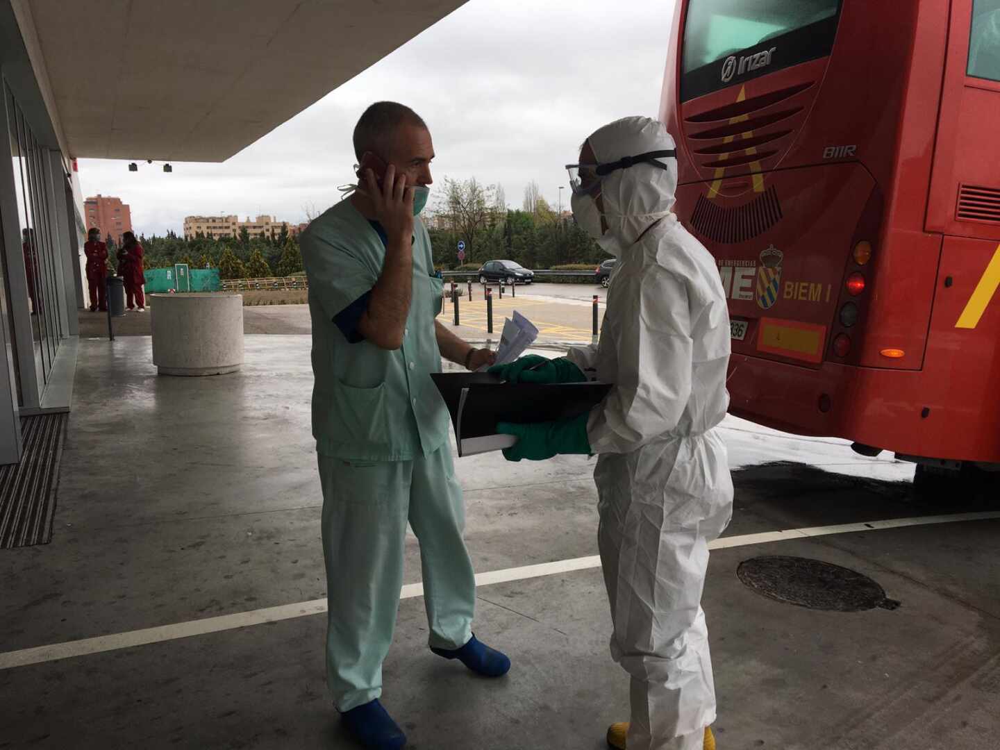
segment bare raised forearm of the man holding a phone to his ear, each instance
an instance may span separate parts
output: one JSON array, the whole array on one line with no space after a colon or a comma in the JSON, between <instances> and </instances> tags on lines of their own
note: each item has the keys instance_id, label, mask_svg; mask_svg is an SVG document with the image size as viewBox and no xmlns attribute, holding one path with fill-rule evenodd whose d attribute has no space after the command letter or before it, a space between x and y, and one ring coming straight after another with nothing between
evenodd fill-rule
<instances>
[{"instance_id":1,"label":"bare raised forearm of the man holding a phone to his ear","mask_svg":"<svg viewBox=\"0 0 1000 750\"><path fill-rule=\"evenodd\" d=\"M413 296L413 248L410 238L391 239L386 247L382 274L361 316L358 329L366 340L383 349L403 344L406 318Z\"/></svg>"}]
</instances>

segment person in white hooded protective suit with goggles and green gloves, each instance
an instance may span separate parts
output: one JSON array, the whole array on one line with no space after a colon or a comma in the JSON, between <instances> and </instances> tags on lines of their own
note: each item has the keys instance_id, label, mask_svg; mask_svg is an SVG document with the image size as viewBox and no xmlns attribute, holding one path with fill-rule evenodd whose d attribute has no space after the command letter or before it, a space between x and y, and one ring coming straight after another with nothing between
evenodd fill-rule
<instances>
[{"instance_id":1,"label":"person in white hooded protective suit with goggles and green gloves","mask_svg":"<svg viewBox=\"0 0 1000 750\"><path fill-rule=\"evenodd\" d=\"M577 222L620 262L600 343L564 358L522 357L491 371L508 381L614 387L590 413L501 423L509 460L596 453L598 542L614 633L631 676L631 722L608 744L628 750L714 748L715 687L701 594L708 543L732 514L722 437L729 315L715 261L671 212L673 138L645 117L591 135L569 165Z\"/></svg>"}]
</instances>

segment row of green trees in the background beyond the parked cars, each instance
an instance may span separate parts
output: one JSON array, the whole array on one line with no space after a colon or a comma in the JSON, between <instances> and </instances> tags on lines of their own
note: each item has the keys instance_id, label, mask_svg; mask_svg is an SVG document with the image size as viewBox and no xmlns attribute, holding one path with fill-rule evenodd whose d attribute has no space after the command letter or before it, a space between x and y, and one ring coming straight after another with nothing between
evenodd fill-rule
<instances>
[{"instance_id":1,"label":"row of green trees in the background beyond the parked cars","mask_svg":"<svg viewBox=\"0 0 1000 750\"><path fill-rule=\"evenodd\" d=\"M310 216L310 219L315 218ZM570 216L560 216L541 196L536 182L524 190L520 209L507 207L503 188L484 185L475 177L445 178L437 201L423 216L431 238L434 266L441 270L478 268L489 260L513 260L527 268L591 266L607 259L600 246ZM458 242L465 243L465 260L458 259ZM108 251L115 243L109 236ZM139 237L146 268L218 268L223 279L259 279L302 273L298 238L282 226L280 232L251 237L246 227L235 237L219 239L198 233L179 237Z\"/></svg>"}]
</instances>

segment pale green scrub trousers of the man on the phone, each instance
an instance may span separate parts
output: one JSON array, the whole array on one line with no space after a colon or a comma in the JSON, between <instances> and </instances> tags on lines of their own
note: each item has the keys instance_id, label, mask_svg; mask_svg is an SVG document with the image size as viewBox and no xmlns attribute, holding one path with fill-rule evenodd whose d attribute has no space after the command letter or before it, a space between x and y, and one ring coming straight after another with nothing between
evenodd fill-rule
<instances>
[{"instance_id":1,"label":"pale green scrub trousers of the man on the phone","mask_svg":"<svg viewBox=\"0 0 1000 750\"><path fill-rule=\"evenodd\" d=\"M465 509L449 443L411 461L319 454L326 560L327 682L341 712L382 694L403 585L406 523L420 542L430 645L472 637L476 582L462 539Z\"/></svg>"}]
</instances>

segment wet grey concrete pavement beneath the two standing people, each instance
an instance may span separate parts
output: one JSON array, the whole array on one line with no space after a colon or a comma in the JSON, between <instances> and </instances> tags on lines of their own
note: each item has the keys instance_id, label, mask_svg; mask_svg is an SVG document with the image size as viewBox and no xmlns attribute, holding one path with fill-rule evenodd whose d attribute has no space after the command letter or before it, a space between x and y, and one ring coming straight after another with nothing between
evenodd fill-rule
<instances>
[{"instance_id":1,"label":"wet grey concrete pavement beneath the two standing people","mask_svg":"<svg viewBox=\"0 0 1000 750\"><path fill-rule=\"evenodd\" d=\"M310 340L246 344L240 373L189 379L157 377L148 338L81 341L53 541L0 551L0 748L352 747L313 614L325 580ZM705 591L720 750L1000 747L1000 521L925 518L996 506L917 502L912 467L843 441L735 419L723 432L736 508ZM626 717L592 559L592 468L458 461L476 570L505 571L479 589L476 631L514 667L484 681L431 655L408 587L384 700L410 747L598 750ZM410 537L407 584L418 555ZM761 555L846 566L901 605L765 598L737 577ZM180 637L206 623L216 632ZM22 651L53 644L68 645Z\"/></svg>"}]
</instances>

